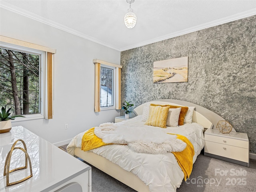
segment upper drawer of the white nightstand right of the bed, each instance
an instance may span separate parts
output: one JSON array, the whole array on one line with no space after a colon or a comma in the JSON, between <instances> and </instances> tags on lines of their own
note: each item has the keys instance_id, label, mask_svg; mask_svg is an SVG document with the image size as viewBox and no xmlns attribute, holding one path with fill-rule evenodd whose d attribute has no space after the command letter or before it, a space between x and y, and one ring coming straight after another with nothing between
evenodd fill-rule
<instances>
[{"instance_id":1,"label":"upper drawer of the white nightstand right of the bed","mask_svg":"<svg viewBox=\"0 0 256 192\"><path fill-rule=\"evenodd\" d=\"M249 148L248 141L244 141L244 140L226 138L226 137L221 137L221 136L214 136L214 135L209 135L209 134L204 135L204 140L219 143L219 144L237 146L240 148L246 148L246 149Z\"/></svg>"}]
</instances>

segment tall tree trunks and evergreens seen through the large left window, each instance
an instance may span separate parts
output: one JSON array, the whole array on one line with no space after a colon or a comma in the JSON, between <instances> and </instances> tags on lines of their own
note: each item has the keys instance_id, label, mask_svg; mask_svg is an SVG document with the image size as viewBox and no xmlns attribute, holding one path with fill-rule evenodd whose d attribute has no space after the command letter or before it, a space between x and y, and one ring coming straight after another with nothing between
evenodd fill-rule
<instances>
[{"instance_id":1,"label":"tall tree trunks and evergreens seen through the large left window","mask_svg":"<svg viewBox=\"0 0 256 192\"><path fill-rule=\"evenodd\" d=\"M0 48L0 106L40 113L40 55Z\"/></svg>"}]
</instances>

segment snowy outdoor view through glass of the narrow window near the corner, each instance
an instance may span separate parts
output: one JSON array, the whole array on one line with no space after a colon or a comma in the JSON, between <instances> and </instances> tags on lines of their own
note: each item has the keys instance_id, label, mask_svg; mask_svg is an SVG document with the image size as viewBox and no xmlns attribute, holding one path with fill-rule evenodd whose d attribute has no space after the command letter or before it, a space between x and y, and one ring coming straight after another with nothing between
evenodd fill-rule
<instances>
[{"instance_id":1,"label":"snowy outdoor view through glass of the narrow window near the corner","mask_svg":"<svg viewBox=\"0 0 256 192\"><path fill-rule=\"evenodd\" d=\"M100 106L113 106L113 69L100 67Z\"/></svg>"}]
</instances>

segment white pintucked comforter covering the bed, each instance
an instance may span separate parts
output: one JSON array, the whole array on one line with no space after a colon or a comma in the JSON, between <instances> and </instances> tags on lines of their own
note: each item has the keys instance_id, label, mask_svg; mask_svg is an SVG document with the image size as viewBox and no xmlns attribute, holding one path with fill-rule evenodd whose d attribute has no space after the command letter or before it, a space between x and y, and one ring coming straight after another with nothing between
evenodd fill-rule
<instances>
[{"instance_id":1,"label":"white pintucked comforter covering the bed","mask_svg":"<svg viewBox=\"0 0 256 192\"><path fill-rule=\"evenodd\" d=\"M131 124L135 126L145 126L144 123L141 121L141 115L130 120L118 122L118 124ZM163 128L163 131L166 133L180 134L190 140L195 150L193 163L204 147L203 130L204 128L197 123ZM74 148L81 148L84 133L82 132L72 139L67 147L69 154L74 156ZM127 145L118 144L102 146L91 150L91 152L103 156L124 170L138 176L149 186L150 192L176 192L176 188L180 187L184 178L184 174L172 153L137 153L132 151Z\"/></svg>"}]
</instances>

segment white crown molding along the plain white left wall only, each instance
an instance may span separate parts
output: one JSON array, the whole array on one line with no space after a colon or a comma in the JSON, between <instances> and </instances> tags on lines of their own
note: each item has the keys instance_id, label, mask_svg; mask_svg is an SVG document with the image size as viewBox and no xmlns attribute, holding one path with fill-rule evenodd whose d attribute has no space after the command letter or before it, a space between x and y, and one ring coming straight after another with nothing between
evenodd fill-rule
<instances>
[{"instance_id":1,"label":"white crown molding along the plain white left wall only","mask_svg":"<svg viewBox=\"0 0 256 192\"><path fill-rule=\"evenodd\" d=\"M12 11L12 12L14 12L14 13L20 14L20 15L22 15L22 16L25 16L25 17L28 17L28 18L30 18L30 19L36 20L36 21L38 21L38 22L41 22L41 23L47 24L47 25L49 25L49 26L52 26L52 27L54 27L54 28L63 30L63 31L65 31L65 32L68 32L68 33L71 33L71 34L74 34L74 35L76 35L76 36L82 37L82 38L84 38L84 39L90 40L90 41L95 42L95 43L98 43L98 44L101 44L101 45L106 46L106 47L108 47L108 48L111 48L111 49L120 51L119 48L117 48L117 47L115 47L115 46L112 46L112 45L108 44L107 42L98 40L98 39L96 39L96 38L94 38L94 37L92 37L92 36L88 36L88 35L86 35L86 34L84 34L84 33L78 32L78 31L76 31L76 30L74 30L74 29L72 29L72 28L69 28L69 27L67 27L67 26L64 26L64 25L62 25L62 24L60 24L60 23L54 22L54 21L52 21L52 20L50 20L50 19L46 19L46 18L44 18L44 17L42 17L42 16L39 16L39 15L37 15L37 14L34 14L34 13L29 12L29 11L27 11L27 10L24 10L24 9L22 9L22 8L18 8L18 7L16 7L16 6L13 6L12 4L9 4L9 3L7 3L7 2L1 2L0 8L4 8L4 9L6 9L6 10Z\"/></svg>"}]
</instances>

